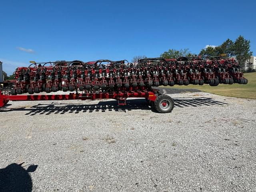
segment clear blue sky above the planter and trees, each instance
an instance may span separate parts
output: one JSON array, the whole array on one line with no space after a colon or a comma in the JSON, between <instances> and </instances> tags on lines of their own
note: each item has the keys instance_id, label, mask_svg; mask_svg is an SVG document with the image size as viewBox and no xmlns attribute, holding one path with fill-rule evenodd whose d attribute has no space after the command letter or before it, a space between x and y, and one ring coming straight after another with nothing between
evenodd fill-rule
<instances>
[{"instance_id":1,"label":"clear blue sky above the planter and trees","mask_svg":"<svg viewBox=\"0 0 256 192\"><path fill-rule=\"evenodd\" d=\"M1 1L0 61L131 60L170 48L198 54L239 35L256 55L256 1Z\"/></svg>"}]
</instances>

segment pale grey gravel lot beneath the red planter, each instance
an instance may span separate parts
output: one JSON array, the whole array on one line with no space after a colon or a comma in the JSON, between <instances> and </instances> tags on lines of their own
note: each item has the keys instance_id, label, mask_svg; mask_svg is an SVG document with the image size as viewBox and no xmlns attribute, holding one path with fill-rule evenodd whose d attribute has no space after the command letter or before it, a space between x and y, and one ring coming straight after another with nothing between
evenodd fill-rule
<instances>
[{"instance_id":1,"label":"pale grey gravel lot beneath the red planter","mask_svg":"<svg viewBox=\"0 0 256 192\"><path fill-rule=\"evenodd\" d=\"M256 100L170 96L169 114L144 99L9 102L0 191L256 191Z\"/></svg>"}]
</instances>

